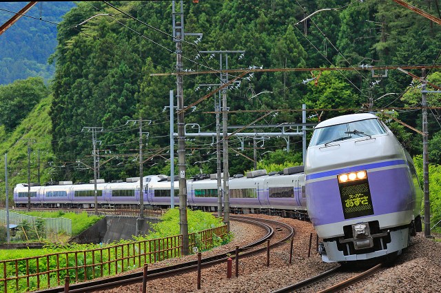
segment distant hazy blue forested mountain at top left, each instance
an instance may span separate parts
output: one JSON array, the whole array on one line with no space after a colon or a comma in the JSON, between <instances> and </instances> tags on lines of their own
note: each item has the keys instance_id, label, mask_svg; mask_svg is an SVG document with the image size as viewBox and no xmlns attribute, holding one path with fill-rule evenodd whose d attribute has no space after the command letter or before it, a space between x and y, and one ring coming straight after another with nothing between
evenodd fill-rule
<instances>
[{"instance_id":1,"label":"distant hazy blue forested mountain at top left","mask_svg":"<svg viewBox=\"0 0 441 293\"><path fill-rule=\"evenodd\" d=\"M26 2L1 2L3 24ZM0 36L0 84L27 77L52 78L54 64L48 58L57 46L57 23L74 6L73 2L40 2ZM40 20L41 17L41 20Z\"/></svg>"}]
</instances>

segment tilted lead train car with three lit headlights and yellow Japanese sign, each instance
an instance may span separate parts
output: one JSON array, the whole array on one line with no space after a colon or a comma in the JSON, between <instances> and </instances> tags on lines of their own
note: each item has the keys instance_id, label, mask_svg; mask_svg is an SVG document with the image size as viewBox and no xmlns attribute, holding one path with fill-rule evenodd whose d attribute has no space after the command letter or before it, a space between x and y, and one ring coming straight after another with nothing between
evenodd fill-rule
<instances>
[{"instance_id":1,"label":"tilted lead train car with three lit headlights and yellow Japanese sign","mask_svg":"<svg viewBox=\"0 0 441 293\"><path fill-rule=\"evenodd\" d=\"M316 126L305 161L309 218L322 260L398 255L422 230L422 191L411 156L373 114Z\"/></svg>"}]
</instances>

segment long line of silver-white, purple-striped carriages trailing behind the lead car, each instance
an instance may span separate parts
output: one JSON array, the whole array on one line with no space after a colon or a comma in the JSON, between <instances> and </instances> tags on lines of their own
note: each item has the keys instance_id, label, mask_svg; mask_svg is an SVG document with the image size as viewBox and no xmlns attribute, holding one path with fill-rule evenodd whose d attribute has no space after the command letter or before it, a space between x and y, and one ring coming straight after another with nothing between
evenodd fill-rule
<instances>
[{"instance_id":1,"label":"long line of silver-white, purple-striped carriages trailing behind the lead car","mask_svg":"<svg viewBox=\"0 0 441 293\"><path fill-rule=\"evenodd\" d=\"M215 174L214 174L215 175ZM48 208L91 208L94 206L94 184L72 184L31 186L31 205ZM143 202L161 208L171 206L171 181L165 175L143 177ZM223 185L223 182L222 182ZM96 184L96 198L101 207L136 206L140 204L139 178L126 182ZM179 182L174 181L174 205L179 205ZM223 199L222 199L223 202ZM28 185L17 184L14 188L14 203L19 207L28 205ZM240 213L271 212L299 219L307 217L305 196L305 174L302 166L287 168L283 172L256 170L247 176L229 179L229 204ZM187 206L207 211L218 207L216 176L199 176L187 181Z\"/></svg>"}]
</instances>

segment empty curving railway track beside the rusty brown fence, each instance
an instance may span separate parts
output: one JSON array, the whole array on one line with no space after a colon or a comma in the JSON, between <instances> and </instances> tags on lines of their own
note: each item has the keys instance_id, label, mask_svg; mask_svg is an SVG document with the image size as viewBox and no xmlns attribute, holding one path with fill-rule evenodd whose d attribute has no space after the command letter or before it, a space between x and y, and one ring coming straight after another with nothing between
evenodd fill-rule
<instances>
[{"instance_id":1,"label":"empty curving railway track beside the rusty brown fence","mask_svg":"<svg viewBox=\"0 0 441 293\"><path fill-rule=\"evenodd\" d=\"M240 258L252 256L267 249L267 240L271 239L270 247L276 247L285 243L288 239L294 236L294 228L285 223L272 221L268 219L252 218L247 216L230 216L232 221L241 221L243 223L249 223L252 225L258 225L266 230L265 236L240 247ZM236 250L222 252L214 256L205 257L201 260L201 266L211 266L218 263L224 263L225 259L231 257L234 259ZM154 280L160 277L172 276L174 274L186 272L188 270L194 270L198 266L197 261L187 261L185 263L179 263L176 265L169 265L167 267L160 267L147 272L147 279ZM134 272L131 274L124 274L120 276L112 276L106 279L99 279L95 281L88 281L83 283L72 284L69 287L69 292L92 292L95 290L106 290L112 287L129 285L132 283L141 283L143 281L143 272ZM47 290L40 290L38 292L45 293L58 293L65 292L64 287L54 287Z\"/></svg>"}]
</instances>

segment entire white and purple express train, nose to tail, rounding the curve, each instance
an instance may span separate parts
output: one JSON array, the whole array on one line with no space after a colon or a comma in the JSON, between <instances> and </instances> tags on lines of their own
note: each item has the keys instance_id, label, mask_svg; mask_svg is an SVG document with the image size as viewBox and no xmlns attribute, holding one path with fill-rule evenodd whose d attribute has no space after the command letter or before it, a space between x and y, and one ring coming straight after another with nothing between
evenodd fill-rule
<instances>
[{"instance_id":1,"label":"entire white and purple express train, nose to tail, rounding the curve","mask_svg":"<svg viewBox=\"0 0 441 293\"><path fill-rule=\"evenodd\" d=\"M99 207L171 206L179 202L177 176L163 174L125 182L97 181ZM223 182L222 182L223 186ZM94 182L14 188L17 207L91 208ZM421 232L422 190L413 160L374 114L349 114L316 125L305 167L280 172L254 170L229 177L229 204L238 214L265 213L310 220L322 241L325 262L347 263L398 255L410 236ZM214 212L218 207L216 174L187 180L187 206Z\"/></svg>"}]
</instances>

